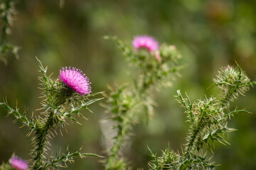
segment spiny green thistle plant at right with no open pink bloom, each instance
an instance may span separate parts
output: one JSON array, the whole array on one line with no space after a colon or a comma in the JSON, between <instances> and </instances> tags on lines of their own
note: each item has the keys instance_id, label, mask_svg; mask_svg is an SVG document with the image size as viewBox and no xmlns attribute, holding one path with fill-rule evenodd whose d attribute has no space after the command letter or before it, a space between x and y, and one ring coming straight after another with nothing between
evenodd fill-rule
<instances>
[{"instance_id":1,"label":"spiny green thistle plant at right with no open pink bloom","mask_svg":"<svg viewBox=\"0 0 256 170\"><path fill-rule=\"evenodd\" d=\"M149 162L150 169L215 169L215 164L207 159L208 150L213 152L214 142L223 145L228 144L225 136L235 129L228 128L228 120L235 113L249 113L245 110L230 110L230 102L238 96L244 95L255 81L245 75L239 66L225 67L220 69L218 76L213 79L214 86L221 91L220 96L210 96L203 100L192 103L178 92L178 102L185 109L188 123L190 123L186 144L183 145L181 154L169 149L156 157L151 151L152 161Z\"/></svg>"}]
</instances>

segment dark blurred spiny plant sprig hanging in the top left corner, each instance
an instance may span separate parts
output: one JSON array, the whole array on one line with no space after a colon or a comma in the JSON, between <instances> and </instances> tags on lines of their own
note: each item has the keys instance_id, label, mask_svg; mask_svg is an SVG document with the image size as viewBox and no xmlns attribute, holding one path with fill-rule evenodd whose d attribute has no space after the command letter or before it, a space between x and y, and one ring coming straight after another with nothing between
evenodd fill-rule
<instances>
[{"instance_id":1,"label":"dark blurred spiny plant sprig hanging in the top left corner","mask_svg":"<svg viewBox=\"0 0 256 170\"><path fill-rule=\"evenodd\" d=\"M6 43L7 35L11 32L11 23L14 16L14 1L1 0L0 1L0 60L7 62L7 57L10 52L18 58L19 47Z\"/></svg>"}]
</instances>

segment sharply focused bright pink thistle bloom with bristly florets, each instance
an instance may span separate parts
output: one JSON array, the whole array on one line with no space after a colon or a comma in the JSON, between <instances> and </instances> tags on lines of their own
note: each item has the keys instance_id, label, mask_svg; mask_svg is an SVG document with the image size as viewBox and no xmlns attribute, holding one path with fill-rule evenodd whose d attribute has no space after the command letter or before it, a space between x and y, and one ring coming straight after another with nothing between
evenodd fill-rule
<instances>
[{"instance_id":1,"label":"sharply focused bright pink thistle bloom with bristly florets","mask_svg":"<svg viewBox=\"0 0 256 170\"><path fill-rule=\"evenodd\" d=\"M88 77L80 69L65 67L60 69L60 79L80 95L90 94L91 86Z\"/></svg>"}]
</instances>

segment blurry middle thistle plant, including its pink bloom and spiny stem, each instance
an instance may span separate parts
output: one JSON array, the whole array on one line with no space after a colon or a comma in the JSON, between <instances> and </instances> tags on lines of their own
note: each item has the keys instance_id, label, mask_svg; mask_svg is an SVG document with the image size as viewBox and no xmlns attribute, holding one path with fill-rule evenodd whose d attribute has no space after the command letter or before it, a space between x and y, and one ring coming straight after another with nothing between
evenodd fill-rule
<instances>
[{"instance_id":1,"label":"blurry middle thistle plant, including its pink bloom and spiny stem","mask_svg":"<svg viewBox=\"0 0 256 170\"><path fill-rule=\"evenodd\" d=\"M106 108L112 113L110 119L114 122L117 132L105 164L105 169L109 170L127 169L127 163L120 157L120 149L132 125L137 123L143 114L149 118L154 113L154 100L150 91L153 87L169 84L174 78L173 74L181 69L178 62L181 55L173 45L159 46L159 42L147 35L134 38L134 49L115 37L112 40L117 42L124 56L137 67L138 72L132 77L132 83L110 88L111 92L106 96L109 103Z\"/></svg>"}]
</instances>

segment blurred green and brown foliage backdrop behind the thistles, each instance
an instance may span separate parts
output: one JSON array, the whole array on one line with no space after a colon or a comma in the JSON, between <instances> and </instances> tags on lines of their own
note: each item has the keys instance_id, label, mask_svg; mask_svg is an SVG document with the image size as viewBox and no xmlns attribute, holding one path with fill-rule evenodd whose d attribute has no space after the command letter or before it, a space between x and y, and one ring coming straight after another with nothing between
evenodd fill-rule
<instances>
[{"instance_id":1,"label":"blurred green and brown foliage backdrop behind the thistles","mask_svg":"<svg viewBox=\"0 0 256 170\"><path fill-rule=\"evenodd\" d=\"M133 67L122 56L117 45L104 40L104 35L117 35L132 46L134 35L152 35L159 42L176 45L186 67L173 86L156 89L156 114L149 123L134 127L123 149L133 169L147 168L149 146L161 153L167 145L181 152L188 123L183 109L176 102L176 90L187 92L192 101L204 94L218 95L209 88L218 69L228 64L240 64L251 79L256 79L256 1L238 0L15 0L16 14L8 41L21 47L20 58L9 57L0 62L0 97L7 96L10 106L29 114L40 108L41 90L37 56L48 66L48 74L57 78L61 67L78 67L92 82L92 91L108 91L107 84L122 84L129 80ZM212 161L218 169L256 169L256 96L251 89L233 103L252 114L239 114L230 120L230 128L238 129L228 136L231 145L215 145ZM102 101L104 102L104 101ZM82 125L70 123L62 137L57 135L50 152L70 151L82 146L82 152L106 156L105 129L101 120L107 118L104 108L90 106L88 120ZM13 118L0 110L0 162L6 162L13 152L23 159L31 150L26 128L18 129ZM58 147L57 147L58 146ZM209 151L210 154L210 151ZM76 159L68 169L103 169L102 159Z\"/></svg>"}]
</instances>

